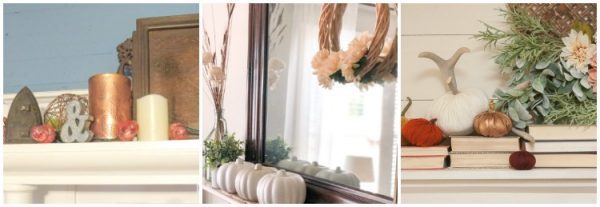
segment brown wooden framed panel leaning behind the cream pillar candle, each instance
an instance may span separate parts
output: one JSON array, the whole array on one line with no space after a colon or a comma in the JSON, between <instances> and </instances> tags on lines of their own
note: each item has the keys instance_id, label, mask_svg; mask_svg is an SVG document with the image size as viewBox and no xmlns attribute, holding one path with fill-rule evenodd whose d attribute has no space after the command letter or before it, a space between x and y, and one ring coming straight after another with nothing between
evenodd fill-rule
<instances>
[{"instance_id":1,"label":"brown wooden framed panel leaning behind the cream pillar candle","mask_svg":"<svg viewBox=\"0 0 600 207\"><path fill-rule=\"evenodd\" d=\"M169 122L198 127L198 14L137 20L133 34L133 105L147 94L169 101Z\"/></svg>"}]
</instances>

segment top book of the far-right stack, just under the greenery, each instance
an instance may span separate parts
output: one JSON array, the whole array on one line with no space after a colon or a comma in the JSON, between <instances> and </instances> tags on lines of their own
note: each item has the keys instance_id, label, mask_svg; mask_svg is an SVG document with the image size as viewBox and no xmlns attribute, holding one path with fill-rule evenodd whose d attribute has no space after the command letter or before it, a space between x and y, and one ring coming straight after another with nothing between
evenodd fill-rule
<instances>
[{"instance_id":1,"label":"top book of the far-right stack, just under the greenery","mask_svg":"<svg viewBox=\"0 0 600 207\"><path fill-rule=\"evenodd\" d=\"M596 125L529 125L529 134L540 140L596 140Z\"/></svg>"}]
</instances>

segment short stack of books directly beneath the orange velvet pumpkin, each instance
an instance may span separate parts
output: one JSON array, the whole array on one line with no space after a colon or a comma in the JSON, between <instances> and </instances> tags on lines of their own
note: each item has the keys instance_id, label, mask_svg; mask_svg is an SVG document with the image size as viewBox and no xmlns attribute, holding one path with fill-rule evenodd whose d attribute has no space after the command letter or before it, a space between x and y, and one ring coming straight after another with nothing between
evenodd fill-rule
<instances>
[{"instance_id":1,"label":"short stack of books directly beneath the orange velvet pumpkin","mask_svg":"<svg viewBox=\"0 0 600 207\"><path fill-rule=\"evenodd\" d=\"M402 170L436 170L448 166L448 146L401 147Z\"/></svg>"}]
</instances>

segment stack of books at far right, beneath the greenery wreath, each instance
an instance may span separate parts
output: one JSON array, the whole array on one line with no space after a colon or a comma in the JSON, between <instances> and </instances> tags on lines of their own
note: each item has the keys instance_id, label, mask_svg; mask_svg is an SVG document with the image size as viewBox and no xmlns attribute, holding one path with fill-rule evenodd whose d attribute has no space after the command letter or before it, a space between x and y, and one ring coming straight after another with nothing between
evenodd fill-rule
<instances>
[{"instance_id":1,"label":"stack of books at far right, beneath the greenery wreath","mask_svg":"<svg viewBox=\"0 0 600 207\"><path fill-rule=\"evenodd\" d=\"M535 142L525 142L536 168L595 168L596 126L530 125Z\"/></svg>"}]
</instances>

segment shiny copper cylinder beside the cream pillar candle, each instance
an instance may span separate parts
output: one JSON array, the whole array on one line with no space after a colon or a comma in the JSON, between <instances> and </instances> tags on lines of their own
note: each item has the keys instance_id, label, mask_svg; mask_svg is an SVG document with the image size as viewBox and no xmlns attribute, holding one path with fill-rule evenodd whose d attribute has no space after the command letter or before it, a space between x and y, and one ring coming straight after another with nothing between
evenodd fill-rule
<instances>
[{"instance_id":1,"label":"shiny copper cylinder beside the cream pillar candle","mask_svg":"<svg viewBox=\"0 0 600 207\"><path fill-rule=\"evenodd\" d=\"M117 139L117 124L131 120L129 78L116 73L97 74L88 80L88 84L94 141Z\"/></svg>"}]
</instances>

